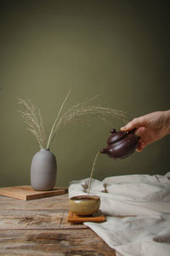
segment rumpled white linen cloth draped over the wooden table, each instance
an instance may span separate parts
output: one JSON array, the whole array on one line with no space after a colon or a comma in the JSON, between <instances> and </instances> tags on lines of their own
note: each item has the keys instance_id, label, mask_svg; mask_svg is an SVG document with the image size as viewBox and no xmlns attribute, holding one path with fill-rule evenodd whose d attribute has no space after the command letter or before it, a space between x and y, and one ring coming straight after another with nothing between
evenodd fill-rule
<instances>
[{"instance_id":1,"label":"rumpled white linen cloth draped over the wooden table","mask_svg":"<svg viewBox=\"0 0 170 256\"><path fill-rule=\"evenodd\" d=\"M170 256L170 172L93 179L90 195L99 195L104 223L85 222L123 256ZM72 181L69 197L87 195L89 178ZM124 216L119 218L117 216ZM125 217L128 216L128 217Z\"/></svg>"}]
</instances>

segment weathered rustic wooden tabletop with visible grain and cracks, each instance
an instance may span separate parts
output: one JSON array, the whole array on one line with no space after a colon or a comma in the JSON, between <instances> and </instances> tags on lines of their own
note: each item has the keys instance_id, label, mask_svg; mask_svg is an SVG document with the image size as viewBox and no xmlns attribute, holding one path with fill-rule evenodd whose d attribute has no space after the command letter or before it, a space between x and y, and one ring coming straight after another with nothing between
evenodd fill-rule
<instances>
[{"instance_id":1,"label":"weathered rustic wooden tabletop with visible grain and cracks","mask_svg":"<svg viewBox=\"0 0 170 256\"><path fill-rule=\"evenodd\" d=\"M0 196L0 255L116 255L93 230L68 223L68 210L68 195L32 201Z\"/></svg>"}]
</instances>

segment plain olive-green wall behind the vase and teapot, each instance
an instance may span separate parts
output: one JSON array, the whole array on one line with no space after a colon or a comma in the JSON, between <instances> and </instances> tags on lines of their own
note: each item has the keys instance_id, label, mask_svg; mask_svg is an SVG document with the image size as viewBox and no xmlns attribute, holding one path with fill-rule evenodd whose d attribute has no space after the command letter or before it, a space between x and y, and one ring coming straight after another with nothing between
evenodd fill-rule
<instances>
[{"instance_id":1,"label":"plain olive-green wall behind the vase and teapot","mask_svg":"<svg viewBox=\"0 0 170 256\"><path fill-rule=\"evenodd\" d=\"M65 108L100 95L96 103L128 119L169 109L168 1L1 1L0 186L30 183L38 145L17 110L30 98L47 135L69 89ZM57 185L89 177L95 154L113 127L93 120L58 132L51 151ZM169 171L169 137L125 160L102 156L94 177Z\"/></svg>"}]
</instances>

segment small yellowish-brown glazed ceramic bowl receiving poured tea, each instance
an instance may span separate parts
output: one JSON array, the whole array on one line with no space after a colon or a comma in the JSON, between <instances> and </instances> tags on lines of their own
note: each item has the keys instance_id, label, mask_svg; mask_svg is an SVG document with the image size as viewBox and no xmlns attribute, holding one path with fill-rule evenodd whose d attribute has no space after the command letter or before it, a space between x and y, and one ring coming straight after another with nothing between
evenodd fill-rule
<instances>
[{"instance_id":1,"label":"small yellowish-brown glazed ceramic bowl receiving poured tea","mask_svg":"<svg viewBox=\"0 0 170 256\"><path fill-rule=\"evenodd\" d=\"M98 212L100 198L97 195L77 195L69 200L70 210L78 215L90 215Z\"/></svg>"}]
</instances>

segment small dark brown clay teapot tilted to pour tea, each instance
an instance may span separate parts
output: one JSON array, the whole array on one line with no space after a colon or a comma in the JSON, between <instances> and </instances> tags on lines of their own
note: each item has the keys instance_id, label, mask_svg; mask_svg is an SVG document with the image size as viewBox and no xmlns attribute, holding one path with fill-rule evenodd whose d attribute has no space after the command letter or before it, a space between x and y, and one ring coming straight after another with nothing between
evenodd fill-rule
<instances>
[{"instance_id":1,"label":"small dark brown clay teapot tilted to pour tea","mask_svg":"<svg viewBox=\"0 0 170 256\"><path fill-rule=\"evenodd\" d=\"M132 131L111 130L111 136L107 140L107 148L100 151L101 154L108 154L113 159L123 159L133 154L139 143L139 137Z\"/></svg>"}]
</instances>

